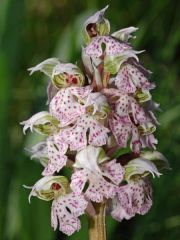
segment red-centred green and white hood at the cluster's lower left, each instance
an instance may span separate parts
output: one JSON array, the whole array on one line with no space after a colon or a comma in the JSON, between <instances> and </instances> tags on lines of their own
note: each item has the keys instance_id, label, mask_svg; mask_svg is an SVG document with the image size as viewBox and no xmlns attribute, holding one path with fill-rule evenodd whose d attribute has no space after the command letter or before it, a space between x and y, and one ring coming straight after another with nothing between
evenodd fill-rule
<instances>
[{"instance_id":1,"label":"red-centred green and white hood at the cluster's lower left","mask_svg":"<svg viewBox=\"0 0 180 240\"><path fill-rule=\"evenodd\" d=\"M32 196L50 201L69 191L69 182L64 176L45 176L32 187L29 202Z\"/></svg>"}]
</instances>

